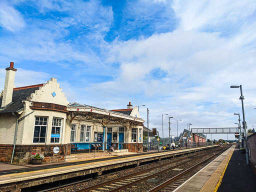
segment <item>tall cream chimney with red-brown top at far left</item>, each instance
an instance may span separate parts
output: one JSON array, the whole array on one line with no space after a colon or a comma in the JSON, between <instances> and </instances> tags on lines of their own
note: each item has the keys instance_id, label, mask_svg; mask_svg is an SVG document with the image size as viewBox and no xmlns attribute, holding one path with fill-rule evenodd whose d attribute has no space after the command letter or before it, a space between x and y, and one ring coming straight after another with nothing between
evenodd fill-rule
<instances>
[{"instance_id":1,"label":"tall cream chimney with red-brown top at far left","mask_svg":"<svg viewBox=\"0 0 256 192\"><path fill-rule=\"evenodd\" d=\"M5 68L6 75L5 75L5 82L4 82L4 89L2 93L2 104L1 108L4 108L7 104L12 101L12 92L14 86L14 77L15 71L17 69L13 68L14 62L10 62L10 66Z\"/></svg>"}]
</instances>

